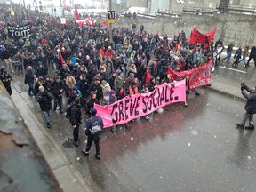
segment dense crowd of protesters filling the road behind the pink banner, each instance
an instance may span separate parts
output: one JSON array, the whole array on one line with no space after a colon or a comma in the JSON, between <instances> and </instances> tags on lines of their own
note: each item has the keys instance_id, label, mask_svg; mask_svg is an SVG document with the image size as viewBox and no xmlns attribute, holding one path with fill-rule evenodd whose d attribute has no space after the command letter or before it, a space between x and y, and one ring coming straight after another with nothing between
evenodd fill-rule
<instances>
[{"instance_id":1,"label":"dense crowd of protesters filling the road behind the pink banner","mask_svg":"<svg viewBox=\"0 0 256 192\"><path fill-rule=\"evenodd\" d=\"M63 113L63 96L68 104L74 101L77 104L78 97L86 115L91 117L94 103L108 106L127 95L152 92L158 84L177 79L167 73L167 68L174 71L197 68L212 56L217 64L223 50L219 49L223 47L221 39L215 44L189 44L184 31L171 38L161 37L147 33L143 24L137 27L134 23L131 28L113 28L111 40L109 28L100 23L79 28L74 17L60 24L58 17L18 4L12 4L14 15L10 5L1 6L0 10L0 56L6 70L25 74L28 95L35 95L39 104L44 100L40 98L42 92L50 92L51 95L45 95L53 99L53 110L58 107L60 113ZM31 36L8 36L7 23L12 26L30 23ZM199 95L196 90L189 90L188 79L186 83L188 93ZM50 128L48 112L44 115Z\"/></svg>"}]
</instances>

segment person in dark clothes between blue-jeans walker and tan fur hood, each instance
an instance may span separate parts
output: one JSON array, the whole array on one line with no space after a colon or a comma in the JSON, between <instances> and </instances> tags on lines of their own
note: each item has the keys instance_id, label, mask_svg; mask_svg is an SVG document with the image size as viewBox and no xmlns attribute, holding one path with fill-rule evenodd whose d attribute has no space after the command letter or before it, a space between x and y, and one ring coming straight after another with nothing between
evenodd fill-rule
<instances>
[{"instance_id":1,"label":"person in dark clothes between blue-jeans walker and tan fur hood","mask_svg":"<svg viewBox=\"0 0 256 192\"><path fill-rule=\"evenodd\" d=\"M65 85L60 80L60 76L55 76L54 81L51 84L51 92L54 97L53 100L53 110L56 111L57 106L60 108L60 114L63 113L62 111L62 93L65 90Z\"/></svg>"}]
</instances>

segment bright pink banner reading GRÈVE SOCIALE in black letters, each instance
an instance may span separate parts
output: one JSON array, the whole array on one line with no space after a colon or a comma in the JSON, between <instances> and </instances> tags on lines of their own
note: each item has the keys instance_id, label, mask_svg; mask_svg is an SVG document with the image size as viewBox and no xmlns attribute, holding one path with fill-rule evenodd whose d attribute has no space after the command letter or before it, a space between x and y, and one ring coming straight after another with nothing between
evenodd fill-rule
<instances>
[{"instance_id":1,"label":"bright pink banner reading GR\u00c8VE SOCIALE in black letters","mask_svg":"<svg viewBox=\"0 0 256 192\"><path fill-rule=\"evenodd\" d=\"M154 92L126 96L123 100L118 100L108 107L95 104L94 108L97 109L97 116L102 118L104 128L106 128L125 124L140 116L147 116L158 108L163 108L171 103L185 101L186 83L185 80L182 80L159 85Z\"/></svg>"}]
</instances>

